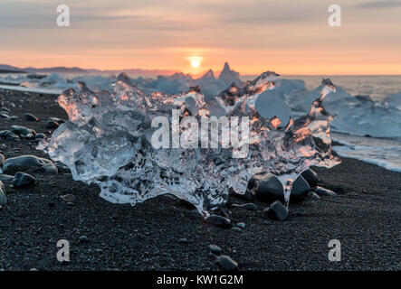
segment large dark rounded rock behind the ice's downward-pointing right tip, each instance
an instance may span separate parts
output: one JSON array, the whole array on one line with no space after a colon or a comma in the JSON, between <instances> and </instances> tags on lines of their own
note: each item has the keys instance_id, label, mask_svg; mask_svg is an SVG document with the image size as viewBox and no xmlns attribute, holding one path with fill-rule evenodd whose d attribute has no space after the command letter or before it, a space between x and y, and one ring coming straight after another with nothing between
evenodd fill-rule
<instances>
[{"instance_id":1,"label":"large dark rounded rock behind the ice's downward-pointing right tip","mask_svg":"<svg viewBox=\"0 0 401 289\"><path fill-rule=\"evenodd\" d=\"M272 173L264 172L253 176L256 199L259 200L281 200L284 201L284 192L282 182ZM251 181L250 181L251 182ZM249 185L249 184L248 184ZM292 183L291 202L301 202L310 191L310 185L300 175L295 182Z\"/></svg>"}]
</instances>

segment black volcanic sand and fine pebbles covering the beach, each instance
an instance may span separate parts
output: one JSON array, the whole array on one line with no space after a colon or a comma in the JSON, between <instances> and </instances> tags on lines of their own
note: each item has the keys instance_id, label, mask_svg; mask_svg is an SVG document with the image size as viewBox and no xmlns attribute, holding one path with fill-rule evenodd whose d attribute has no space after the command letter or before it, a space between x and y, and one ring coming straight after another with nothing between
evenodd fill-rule
<instances>
[{"instance_id":1,"label":"black volcanic sand and fine pebbles covering the beach","mask_svg":"<svg viewBox=\"0 0 401 289\"><path fill-rule=\"evenodd\" d=\"M10 115L19 117L0 119L0 130L22 125L42 133L48 131L47 117L66 118L55 96L0 90L0 97ZM24 113L41 121L27 122ZM6 158L45 157L33 141L0 142ZM33 187L7 186L8 203L0 209L0 269L217 270L207 248L215 244L240 270L400 270L401 173L351 159L315 170L320 186L339 196L291 205L286 221L266 219L267 204L261 202L258 211L232 209L234 220L246 224L242 232L205 224L172 197L135 207L112 204L98 196L97 186L74 182L68 171L32 172ZM77 199L72 207L60 198L68 193ZM89 242L80 242L82 235ZM56 259L60 239L70 242L68 264ZM330 239L341 242L340 262L328 259Z\"/></svg>"}]
</instances>

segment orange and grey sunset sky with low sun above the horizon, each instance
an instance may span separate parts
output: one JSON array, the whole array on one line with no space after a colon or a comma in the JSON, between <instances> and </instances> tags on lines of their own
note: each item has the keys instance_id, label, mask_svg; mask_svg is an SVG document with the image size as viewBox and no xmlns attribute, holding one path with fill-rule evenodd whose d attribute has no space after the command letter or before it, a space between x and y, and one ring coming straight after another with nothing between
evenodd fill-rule
<instances>
[{"instance_id":1,"label":"orange and grey sunset sky with low sun above the horizon","mask_svg":"<svg viewBox=\"0 0 401 289\"><path fill-rule=\"evenodd\" d=\"M56 24L61 4L70 27ZM3 64L198 73L224 61L242 74L401 74L401 0L0 2Z\"/></svg>"}]
</instances>

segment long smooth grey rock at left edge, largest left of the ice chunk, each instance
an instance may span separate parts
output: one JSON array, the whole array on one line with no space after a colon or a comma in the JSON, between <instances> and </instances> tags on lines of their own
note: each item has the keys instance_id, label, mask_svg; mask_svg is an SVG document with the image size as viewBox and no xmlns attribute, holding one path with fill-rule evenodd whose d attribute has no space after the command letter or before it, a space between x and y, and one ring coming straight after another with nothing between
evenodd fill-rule
<instances>
[{"instance_id":1,"label":"long smooth grey rock at left edge, largest left of the ice chunk","mask_svg":"<svg viewBox=\"0 0 401 289\"><path fill-rule=\"evenodd\" d=\"M11 172L12 167L16 166L23 166L23 167L33 167L33 168L39 168L43 169L44 172L48 173L57 173L57 167L54 165L54 163L50 160L37 157L34 155L26 154L26 155L20 155L16 157L12 157L9 159L5 160L5 163L3 163L3 172Z\"/></svg>"}]
</instances>

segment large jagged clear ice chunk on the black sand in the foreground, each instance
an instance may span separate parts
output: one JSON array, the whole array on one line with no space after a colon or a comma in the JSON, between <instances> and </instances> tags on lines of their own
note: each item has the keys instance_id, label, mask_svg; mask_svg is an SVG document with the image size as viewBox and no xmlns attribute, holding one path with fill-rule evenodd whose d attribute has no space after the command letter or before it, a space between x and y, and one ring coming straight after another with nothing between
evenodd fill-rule
<instances>
[{"instance_id":1,"label":"large jagged clear ice chunk on the black sand in the foreground","mask_svg":"<svg viewBox=\"0 0 401 289\"><path fill-rule=\"evenodd\" d=\"M58 98L69 120L39 147L54 161L65 163L74 180L97 183L100 196L111 202L135 204L170 193L208 215L224 206L229 189L245 191L253 174L272 172L282 182L288 205L291 183L301 172L310 165L331 167L340 162L329 137L334 117L322 105L335 88L323 79L309 113L289 118L283 126L279 117L262 117L255 108L258 98L270 97L267 91L273 91L277 77L267 71L206 100L202 87L169 96L139 89L124 73L101 91L79 82L76 91L67 89ZM171 121L173 109L179 109L180 117L198 119L249 117L249 154L233 158L233 149L222 145L155 149L151 137L157 128L151 126L152 119L163 116Z\"/></svg>"}]
</instances>

